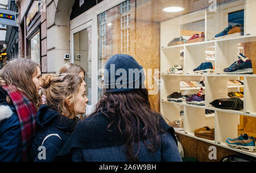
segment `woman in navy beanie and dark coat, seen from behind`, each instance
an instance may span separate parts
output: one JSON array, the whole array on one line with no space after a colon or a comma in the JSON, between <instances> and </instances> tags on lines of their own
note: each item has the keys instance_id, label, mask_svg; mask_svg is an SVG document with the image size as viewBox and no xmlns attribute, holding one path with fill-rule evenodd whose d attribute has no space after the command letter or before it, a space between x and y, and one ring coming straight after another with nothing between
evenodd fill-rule
<instances>
[{"instance_id":1,"label":"woman in navy beanie and dark coat, seen from behind","mask_svg":"<svg viewBox=\"0 0 256 173\"><path fill-rule=\"evenodd\" d=\"M77 124L56 161L182 161L174 129L150 107L144 79L133 57L111 57L105 65L106 93Z\"/></svg>"}]
</instances>

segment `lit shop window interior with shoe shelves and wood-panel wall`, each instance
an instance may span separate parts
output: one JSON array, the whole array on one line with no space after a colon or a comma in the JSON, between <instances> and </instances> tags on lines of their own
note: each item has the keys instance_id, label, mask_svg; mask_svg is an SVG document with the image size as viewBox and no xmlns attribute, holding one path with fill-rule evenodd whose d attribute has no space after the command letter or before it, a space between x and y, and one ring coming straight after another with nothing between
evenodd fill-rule
<instances>
[{"instance_id":1,"label":"lit shop window interior with shoe shelves and wood-panel wall","mask_svg":"<svg viewBox=\"0 0 256 173\"><path fill-rule=\"evenodd\" d=\"M256 16L256 2L130 0L129 5L119 17L115 12L121 6L106 11L112 14L105 21L111 26L106 28L101 61L113 53L126 53L144 69L153 69L151 74L159 69L157 76L147 76L148 90L159 89L150 95L151 105L170 125L182 121L175 132L184 157L220 161L226 155L244 154L255 158L255 146L242 149L226 141L245 133L254 141L256 137L256 21L251 17ZM182 8L167 12L166 7ZM237 62L240 67L240 61L246 67L236 73L232 66ZM194 94L202 100L187 99ZM224 108L214 104L222 103L219 99L239 104ZM205 127L211 136L197 133ZM217 148L216 159L209 159L210 146Z\"/></svg>"}]
</instances>

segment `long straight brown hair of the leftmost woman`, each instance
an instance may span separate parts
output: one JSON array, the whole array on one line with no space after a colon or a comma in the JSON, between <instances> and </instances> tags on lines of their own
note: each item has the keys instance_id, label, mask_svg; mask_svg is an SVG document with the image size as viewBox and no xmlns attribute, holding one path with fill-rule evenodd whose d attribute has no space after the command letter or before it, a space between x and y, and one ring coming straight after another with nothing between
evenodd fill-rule
<instances>
[{"instance_id":1,"label":"long straight brown hair of the leftmost woman","mask_svg":"<svg viewBox=\"0 0 256 173\"><path fill-rule=\"evenodd\" d=\"M38 66L36 62L27 58L19 58L7 62L0 73L0 85L8 85L13 90L11 86L16 86L34 104L36 111L41 106L41 99L32 78L37 75ZM10 102L9 99L7 101Z\"/></svg>"}]
</instances>

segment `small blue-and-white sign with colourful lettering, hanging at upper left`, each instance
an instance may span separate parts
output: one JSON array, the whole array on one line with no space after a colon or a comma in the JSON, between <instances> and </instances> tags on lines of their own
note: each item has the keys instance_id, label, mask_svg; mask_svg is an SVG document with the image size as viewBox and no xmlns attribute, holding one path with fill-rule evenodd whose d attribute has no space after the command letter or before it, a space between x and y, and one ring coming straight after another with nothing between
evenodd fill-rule
<instances>
[{"instance_id":1,"label":"small blue-and-white sign with colourful lettering, hanging at upper left","mask_svg":"<svg viewBox=\"0 0 256 173\"><path fill-rule=\"evenodd\" d=\"M16 23L16 12L0 9L0 24L18 26Z\"/></svg>"}]
</instances>

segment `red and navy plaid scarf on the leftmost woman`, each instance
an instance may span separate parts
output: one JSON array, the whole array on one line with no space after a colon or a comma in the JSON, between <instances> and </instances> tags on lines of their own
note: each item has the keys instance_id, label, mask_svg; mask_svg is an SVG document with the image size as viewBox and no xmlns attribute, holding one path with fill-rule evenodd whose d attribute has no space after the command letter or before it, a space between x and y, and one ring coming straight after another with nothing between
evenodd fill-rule
<instances>
[{"instance_id":1,"label":"red and navy plaid scarf on the leftmost woman","mask_svg":"<svg viewBox=\"0 0 256 173\"><path fill-rule=\"evenodd\" d=\"M32 137L36 134L36 109L22 91L15 86L2 86L13 102L18 114L20 130L22 134L22 161L27 161L27 149L31 144Z\"/></svg>"}]
</instances>

